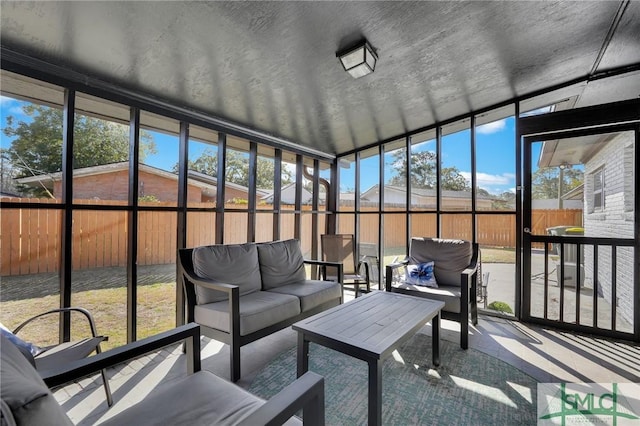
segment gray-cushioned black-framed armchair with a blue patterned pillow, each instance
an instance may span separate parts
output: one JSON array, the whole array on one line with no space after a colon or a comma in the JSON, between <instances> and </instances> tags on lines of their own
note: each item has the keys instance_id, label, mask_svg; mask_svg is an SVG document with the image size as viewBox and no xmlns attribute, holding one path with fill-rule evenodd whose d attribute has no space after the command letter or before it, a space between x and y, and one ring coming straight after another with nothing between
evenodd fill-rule
<instances>
[{"instance_id":1,"label":"gray-cushioned black-framed armchair with a blue patterned pillow","mask_svg":"<svg viewBox=\"0 0 640 426\"><path fill-rule=\"evenodd\" d=\"M386 290L445 303L442 318L460 323L460 346L469 347L469 315L478 323L476 287L480 251L477 243L440 238L411 238L409 256L386 266ZM407 282L408 265L433 262L437 288Z\"/></svg>"}]
</instances>

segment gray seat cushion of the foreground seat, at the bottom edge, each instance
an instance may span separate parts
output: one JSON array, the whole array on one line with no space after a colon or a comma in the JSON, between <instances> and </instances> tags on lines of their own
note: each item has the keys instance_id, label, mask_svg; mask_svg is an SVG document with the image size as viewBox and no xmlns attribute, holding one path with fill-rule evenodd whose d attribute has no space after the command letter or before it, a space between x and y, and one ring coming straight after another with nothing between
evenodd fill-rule
<instances>
[{"instance_id":1,"label":"gray seat cushion of the foreground seat, at the bottom edge","mask_svg":"<svg viewBox=\"0 0 640 426\"><path fill-rule=\"evenodd\" d=\"M232 425L262 404L262 399L244 389L208 371L199 371L166 383L101 424Z\"/></svg>"}]
</instances>

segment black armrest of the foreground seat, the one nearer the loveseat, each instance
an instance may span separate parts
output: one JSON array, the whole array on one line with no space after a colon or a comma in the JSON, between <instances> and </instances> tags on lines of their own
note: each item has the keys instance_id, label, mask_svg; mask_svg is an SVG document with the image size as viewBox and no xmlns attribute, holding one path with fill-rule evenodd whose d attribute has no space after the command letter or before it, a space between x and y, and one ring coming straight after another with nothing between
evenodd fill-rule
<instances>
[{"instance_id":1,"label":"black armrest of the foreground seat, the one nearer the loveseat","mask_svg":"<svg viewBox=\"0 0 640 426\"><path fill-rule=\"evenodd\" d=\"M186 343L187 374L200 371L200 326L190 323L39 373L47 386L60 386L181 341Z\"/></svg>"}]
</instances>

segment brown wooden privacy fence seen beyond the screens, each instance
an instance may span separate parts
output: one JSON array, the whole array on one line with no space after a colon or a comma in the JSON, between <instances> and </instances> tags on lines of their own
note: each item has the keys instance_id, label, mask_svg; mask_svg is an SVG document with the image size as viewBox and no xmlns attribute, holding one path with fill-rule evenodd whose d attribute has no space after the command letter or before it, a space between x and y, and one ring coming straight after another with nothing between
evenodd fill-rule
<instances>
[{"instance_id":1,"label":"brown wooden privacy fence seen beyond the screens","mask_svg":"<svg viewBox=\"0 0 640 426\"><path fill-rule=\"evenodd\" d=\"M53 200L11 199L11 202L52 203ZM93 205L114 205L115 202L93 201ZM155 203L154 205L163 205ZM166 204L171 205L171 204ZM203 204L204 206L205 204ZM192 206L192 203L190 203ZM206 204L211 207L211 204ZM238 206L236 206L238 207ZM311 247L311 213L302 214L302 245ZM324 215L319 215L319 233L324 230ZM117 210L74 210L72 225L72 267L74 270L110 266L126 266L128 245L128 212ZM0 275L25 275L56 272L60 262L61 210L5 208L0 212ZM273 213L258 213L256 239L269 241ZM281 238L293 237L294 215L282 214ZM411 235L435 235L436 215L414 216ZM405 215L385 214L385 246L404 247ZM472 239L472 215L441 216L442 236ZM556 225L582 224L582 210L536 210L533 232L544 234ZM360 239L378 240L378 215L361 216ZM138 265L175 263L177 214L172 211L141 211L138 215ZM246 241L247 215L225 214L227 242ZM515 247L515 215L477 215L477 241L499 247ZM233 241L236 240L236 241ZM215 241L215 213L187 214L187 245L213 244Z\"/></svg>"}]
</instances>

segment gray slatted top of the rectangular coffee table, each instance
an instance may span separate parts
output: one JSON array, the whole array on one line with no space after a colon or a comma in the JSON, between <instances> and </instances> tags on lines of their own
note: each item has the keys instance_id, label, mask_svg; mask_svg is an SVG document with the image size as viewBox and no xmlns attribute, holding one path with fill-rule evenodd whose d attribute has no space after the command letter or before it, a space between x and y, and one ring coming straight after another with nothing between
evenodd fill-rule
<instances>
[{"instance_id":1,"label":"gray slatted top of the rectangular coffee table","mask_svg":"<svg viewBox=\"0 0 640 426\"><path fill-rule=\"evenodd\" d=\"M438 315L444 302L374 291L295 323L312 341L344 345L361 359L382 359Z\"/></svg>"}]
</instances>

